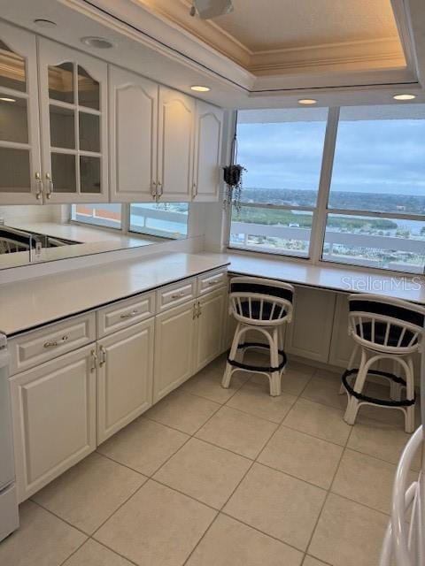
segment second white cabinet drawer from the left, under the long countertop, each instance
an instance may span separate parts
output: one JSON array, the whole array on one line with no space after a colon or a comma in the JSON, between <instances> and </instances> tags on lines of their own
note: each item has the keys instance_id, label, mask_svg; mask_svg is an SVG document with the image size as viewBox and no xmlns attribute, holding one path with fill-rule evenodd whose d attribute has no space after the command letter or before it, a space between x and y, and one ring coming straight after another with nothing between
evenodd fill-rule
<instances>
[{"instance_id":1,"label":"second white cabinet drawer from the left, under the long countertop","mask_svg":"<svg viewBox=\"0 0 425 566\"><path fill-rule=\"evenodd\" d=\"M97 338L135 325L155 315L155 292L114 302L97 310Z\"/></svg>"}]
</instances>

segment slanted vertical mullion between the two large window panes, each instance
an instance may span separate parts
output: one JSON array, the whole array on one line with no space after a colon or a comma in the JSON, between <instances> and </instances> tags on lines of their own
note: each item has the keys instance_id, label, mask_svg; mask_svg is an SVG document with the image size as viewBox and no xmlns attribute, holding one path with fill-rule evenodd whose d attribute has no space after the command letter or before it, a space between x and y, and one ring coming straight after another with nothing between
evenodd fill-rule
<instances>
[{"instance_id":1,"label":"slanted vertical mullion between the two large window panes","mask_svg":"<svg viewBox=\"0 0 425 566\"><path fill-rule=\"evenodd\" d=\"M323 241L326 230L328 196L332 180L334 164L336 133L338 129L339 108L329 108L328 124L326 126L323 157L321 160L321 178L317 195L317 209L313 213L312 236L310 239L310 258L313 264L321 259Z\"/></svg>"}]
</instances>

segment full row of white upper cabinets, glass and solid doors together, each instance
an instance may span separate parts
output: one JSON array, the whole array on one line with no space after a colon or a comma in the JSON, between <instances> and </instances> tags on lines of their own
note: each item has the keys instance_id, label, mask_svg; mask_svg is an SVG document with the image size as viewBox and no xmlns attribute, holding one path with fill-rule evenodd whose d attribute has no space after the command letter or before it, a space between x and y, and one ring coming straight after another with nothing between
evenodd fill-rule
<instances>
[{"instance_id":1,"label":"full row of white upper cabinets, glass and solid doors together","mask_svg":"<svg viewBox=\"0 0 425 566\"><path fill-rule=\"evenodd\" d=\"M222 129L211 104L0 22L1 204L216 201Z\"/></svg>"}]
</instances>

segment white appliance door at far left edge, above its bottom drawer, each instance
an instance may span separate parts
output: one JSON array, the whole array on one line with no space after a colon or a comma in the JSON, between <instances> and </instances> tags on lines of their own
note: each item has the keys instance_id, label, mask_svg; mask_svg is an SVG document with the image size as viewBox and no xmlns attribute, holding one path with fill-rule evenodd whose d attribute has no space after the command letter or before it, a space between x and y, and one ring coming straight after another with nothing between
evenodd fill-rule
<instances>
[{"instance_id":1,"label":"white appliance door at far left edge, above its bottom drawer","mask_svg":"<svg viewBox=\"0 0 425 566\"><path fill-rule=\"evenodd\" d=\"M12 483L14 476L9 356L0 335L0 491Z\"/></svg>"}]
</instances>

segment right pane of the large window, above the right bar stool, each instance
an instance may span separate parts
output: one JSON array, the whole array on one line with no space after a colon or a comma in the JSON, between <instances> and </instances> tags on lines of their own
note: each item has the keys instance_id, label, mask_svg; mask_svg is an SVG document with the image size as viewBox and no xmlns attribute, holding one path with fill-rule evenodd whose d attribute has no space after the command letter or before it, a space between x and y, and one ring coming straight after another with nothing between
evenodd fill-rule
<instances>
[{"instance_id":1,"label":"right pane of the large window, above the right bar stool","mask_svg":"<svg viewBox=\"0 0 425 566\"><path fill-rule=\"evenodd\" d=\"M425 266L425 105L342 108L322 259Z\"/></svg>"}]
</instances>

